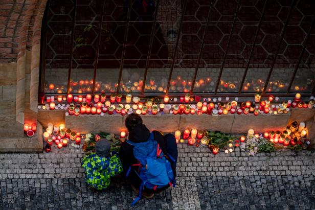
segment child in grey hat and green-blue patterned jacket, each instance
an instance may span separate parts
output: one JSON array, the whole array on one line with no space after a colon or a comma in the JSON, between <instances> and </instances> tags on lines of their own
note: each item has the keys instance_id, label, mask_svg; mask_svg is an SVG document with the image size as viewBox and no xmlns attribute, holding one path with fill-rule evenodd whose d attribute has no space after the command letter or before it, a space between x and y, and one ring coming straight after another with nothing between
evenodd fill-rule
<instances>
[{"instance_id":1,"label":"child in grey hat and green-blue patterned jacket","mask_svg":"<svg viewBox=\"0 0 315 210\"><path fill-rule=\"evenodd\" d=\"M83 157L85 182L97 190L105 190L110 184L110 177L122 172L118 155L110 155L110 142L100 139L95 145L96 153Z\"/></svg>"}]
</instances>

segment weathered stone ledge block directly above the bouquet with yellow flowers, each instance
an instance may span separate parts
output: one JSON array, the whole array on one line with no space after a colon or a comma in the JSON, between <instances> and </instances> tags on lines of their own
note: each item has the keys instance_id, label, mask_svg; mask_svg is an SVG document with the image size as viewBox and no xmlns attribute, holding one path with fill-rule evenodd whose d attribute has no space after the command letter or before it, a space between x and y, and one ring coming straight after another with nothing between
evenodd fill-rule
<instances>
[{"instance_id":1,"label":"weathered stone ledge block directly above the bouquet with yellow flowers","mask_svg":"<svg viewBox=\"0 0 315 210\"><path fill-rule=\"evenodd\" d=\"M179 121L179 130L186 128L200 130L219 130L222 132L230 132L234 121L234 114L227 115L181 115Z\"/></svg>"}]
</instances>

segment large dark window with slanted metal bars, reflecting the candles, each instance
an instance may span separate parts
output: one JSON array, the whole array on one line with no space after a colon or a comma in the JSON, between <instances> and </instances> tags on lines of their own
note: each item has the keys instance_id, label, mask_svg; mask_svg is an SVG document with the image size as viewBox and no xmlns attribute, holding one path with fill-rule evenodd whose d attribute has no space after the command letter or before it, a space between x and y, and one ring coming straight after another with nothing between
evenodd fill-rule
<instances>
[{"instance_id":1,"label":"large dark window with slanted metal bars, reflecting the candles","mask_svg":"<svg viewBox=\"0 0 315 210\"><path fill-rule=\"evenodd\" d=\"M315 3L50 0L45 94L314 94Z\"/></svg>"}]
</instances>

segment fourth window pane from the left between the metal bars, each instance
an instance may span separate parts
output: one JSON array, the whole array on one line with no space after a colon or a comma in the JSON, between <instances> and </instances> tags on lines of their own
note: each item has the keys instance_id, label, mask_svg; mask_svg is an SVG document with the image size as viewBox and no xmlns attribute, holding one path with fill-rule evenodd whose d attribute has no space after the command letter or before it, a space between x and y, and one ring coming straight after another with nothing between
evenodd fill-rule
<instances>
[{"instance_id":1,"label":"fourth window pane from the left between the metal bars","mask_svg":"<svg viewBox=\"0 0 315 210\"><path fill-rule=\"evenodd\" d=\"M121 92L142 91L154 14L154 2L148 4L146 8L141 1L132 3L120 85Z\"/></svg>"}]
</instances>

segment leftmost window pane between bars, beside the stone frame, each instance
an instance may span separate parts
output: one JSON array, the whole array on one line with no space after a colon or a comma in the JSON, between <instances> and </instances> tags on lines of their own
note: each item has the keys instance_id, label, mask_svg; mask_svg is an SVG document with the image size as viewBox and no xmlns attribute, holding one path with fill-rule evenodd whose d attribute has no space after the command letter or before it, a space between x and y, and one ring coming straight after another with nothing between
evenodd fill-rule
<instances>
[{"instance_id":1,"label":"leftmost window pane between bars, beside the stone frame","mask_svg":"<svg viewBox=\"0 0 315 210\"><path fill-rule=\"evenodd\" d=\"M71 52L73 3L50 2L46 29L44 92L65 93Z\"/></svg>"}]
</instances>

